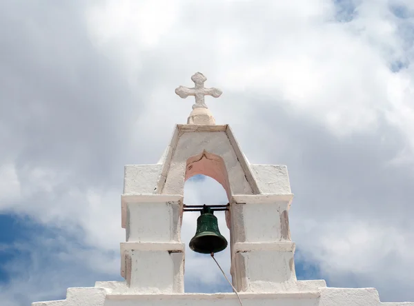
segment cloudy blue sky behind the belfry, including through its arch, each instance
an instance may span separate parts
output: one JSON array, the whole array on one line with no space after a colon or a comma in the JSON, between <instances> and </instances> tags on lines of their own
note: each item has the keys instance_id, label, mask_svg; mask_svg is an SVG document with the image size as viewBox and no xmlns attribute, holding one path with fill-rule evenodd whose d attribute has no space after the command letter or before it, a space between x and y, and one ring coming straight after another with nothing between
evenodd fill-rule
<instances>
[{"instance_id":1,"label":"cloudy blue sky behind the belfry, including through its arch","mask_svg":"<svg viewBox=\"0 0 414 306\"><path fill-rule=\"evenodd\" d=\"M412 0L0 0L1 305L122 280L124 165L157 163L198 71L249 161L288 166L297 277L414 301L413 43ZM230 291L188 249L185 281Z\"/></svg>"}]
</instances>

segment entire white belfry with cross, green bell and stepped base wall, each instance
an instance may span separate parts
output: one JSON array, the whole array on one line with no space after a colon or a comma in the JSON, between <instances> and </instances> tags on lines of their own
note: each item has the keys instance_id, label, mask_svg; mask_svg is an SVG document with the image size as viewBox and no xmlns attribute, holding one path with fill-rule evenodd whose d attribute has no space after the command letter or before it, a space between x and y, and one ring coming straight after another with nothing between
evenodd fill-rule
<instances>
[{"instance_id":1,"label":"entire white belfry with cross, green bell and stepped base wall","mask_svg":"<svg viewBox=\"0 0 414 306\"><path fill-rule=\"evenodd\" d=\"M175 92L181 98L195 96L193 111L187 124L175 126L159 162L125 166L121 226L126 241L120 245L125 281L69 288L66 300L32 306L383 305L373 288L331 288L323 280L297 281L287 167L249 163L230 126L217 125L204 101L206 95L218 98L221 90L204 88L206 77L199 72L191 79L194 88L179 86ZM221 238L216 227L217 205L207 205L197 208L202 218L196 241L190 245L211 256L230 247L231 282L237 294L184 293L181 221L188 209L184 183L197 174L210 176L226 190L228 205L221 208L226 210L230 241Z\"/></svg>"}]
</instances>

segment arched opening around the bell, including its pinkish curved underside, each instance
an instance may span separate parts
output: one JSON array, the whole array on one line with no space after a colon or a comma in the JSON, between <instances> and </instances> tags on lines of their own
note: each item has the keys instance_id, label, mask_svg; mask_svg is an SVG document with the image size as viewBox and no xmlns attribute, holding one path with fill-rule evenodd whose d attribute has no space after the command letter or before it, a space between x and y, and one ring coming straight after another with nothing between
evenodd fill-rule
<instances>
[{"instance_id":1,"label":"arched opening around the bell, including its pinkish curved underside","mask_svg":"<svg viewBox=\"0 0 414 306\"><path fill-rule=\"evenodd\" d=\"M214 178L214 179L213 179ZM230 196L230 187L224 162L219 156L203 152L187 161L184 204L186 205L225 205ZM220 233L227 239L228 247L215 254L221 268L230 276L230 231L226 225L224 212L214 212L219 223ZM214 293L232 292L223 274L209 254L193 252L188 246L195 235L199 212L184 212L181 226L181 241L186 244L184 272L185 292Z\"/></svg>"}]
</instances>

